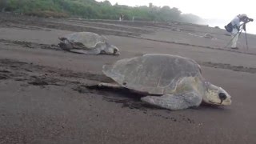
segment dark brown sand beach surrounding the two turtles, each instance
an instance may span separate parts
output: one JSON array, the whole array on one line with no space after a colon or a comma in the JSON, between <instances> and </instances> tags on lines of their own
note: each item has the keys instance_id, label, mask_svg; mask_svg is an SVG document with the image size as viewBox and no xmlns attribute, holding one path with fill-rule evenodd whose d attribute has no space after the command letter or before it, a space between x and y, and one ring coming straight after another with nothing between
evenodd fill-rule
<instances>
[{"instance_id":1,"label":"dark brown sand beach surrounding the two turtles","mask_svg":"<svg viewBox=\"0 0 256 144\"><path fill-rule=\"evenodd\" d=\"M208 26L0 17L0 143L256 143L253 34L249 50L243 34L240 49L231 50L226 31ZM58 37L78 31L105 35L120 56L58 48ZM229 92L232 105L170 111L146 106L129 91L86 87L112 82L104 64L142 54L193 58L204 78Z\"/></svg>"}]
</instances>

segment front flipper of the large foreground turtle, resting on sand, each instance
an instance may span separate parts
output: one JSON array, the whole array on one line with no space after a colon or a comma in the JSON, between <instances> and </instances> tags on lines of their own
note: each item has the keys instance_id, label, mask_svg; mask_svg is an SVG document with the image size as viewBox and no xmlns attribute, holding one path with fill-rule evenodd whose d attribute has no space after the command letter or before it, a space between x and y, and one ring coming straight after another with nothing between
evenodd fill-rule
<instances>
[{"instance_id":1,"label":"front flipper of the large foreground turtle, resting on sand","mask_svg":"<svg viewBox=\"0 0 256 144\"><path fill-rule=\"evenodd\" d=\"M160 106L169 110L182 110L199 106L202 102L202 97L192 91L183 94L164 94L161 97L146 96L141 98L141 100L150 105Z\"/></svg>"}]
</instances>

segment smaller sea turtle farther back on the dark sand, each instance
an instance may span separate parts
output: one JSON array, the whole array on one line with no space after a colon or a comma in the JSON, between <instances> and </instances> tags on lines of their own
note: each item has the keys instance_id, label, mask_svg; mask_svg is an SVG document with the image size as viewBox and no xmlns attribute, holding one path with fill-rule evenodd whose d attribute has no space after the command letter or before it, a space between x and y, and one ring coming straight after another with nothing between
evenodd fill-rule
<instances>
[{"instance_id":1,"label":"smaller sea turtle farther back on the dark sand","mask_svg":"<svg viewBox=\"0 0 256 144\"><path fill-rule=\"evenodd\" d=\"M62 50L68 50L74 53L120 54L118 48L106 42L106 38L104 36L91 32L67 34L59 39L61 42L58 45Z\"/></svg>"}]
</instances>

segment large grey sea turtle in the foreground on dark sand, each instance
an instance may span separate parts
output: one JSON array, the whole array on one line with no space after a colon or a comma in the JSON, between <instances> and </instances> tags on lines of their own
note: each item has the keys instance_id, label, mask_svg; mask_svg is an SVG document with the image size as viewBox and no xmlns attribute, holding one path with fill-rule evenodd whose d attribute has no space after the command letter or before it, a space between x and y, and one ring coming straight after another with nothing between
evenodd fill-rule
<instances>
[{"instance_id":1,"label":"large grey sea turtle in the foreground on dark sand","mask_svg":"<svg viewBox=\"0 0 256 144\"><path fill-rule=\"evenodd\" d=\"M202 77L201 68L190 58L169 54L145 54L104 65L102 72L115 83L99 87L127 88L141 94L142 102L169 110L182 110L206 102L230 106L231 97L221 87Z\"/></svg>"}]
</instances>

